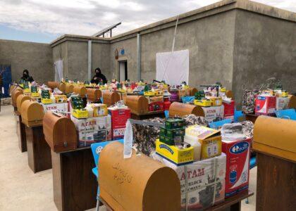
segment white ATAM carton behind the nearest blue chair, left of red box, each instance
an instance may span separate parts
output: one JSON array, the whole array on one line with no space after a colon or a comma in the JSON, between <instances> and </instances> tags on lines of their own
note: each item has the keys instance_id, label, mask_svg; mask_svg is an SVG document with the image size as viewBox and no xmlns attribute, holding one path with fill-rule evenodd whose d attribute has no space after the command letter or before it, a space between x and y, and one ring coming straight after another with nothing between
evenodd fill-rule
<instances>
[{"instance_id":1,"label":"white ATAM carton behind the nearest blue chair, left of red box","mask_svg":"<svg viewBox=\"0 0 296 211\"><path fill-rule=\"evenodd\" d=\"M111 116L77 119L71 116L78 132L78 147L92 143L111 141Z\"/></svg>"}]
</instances>

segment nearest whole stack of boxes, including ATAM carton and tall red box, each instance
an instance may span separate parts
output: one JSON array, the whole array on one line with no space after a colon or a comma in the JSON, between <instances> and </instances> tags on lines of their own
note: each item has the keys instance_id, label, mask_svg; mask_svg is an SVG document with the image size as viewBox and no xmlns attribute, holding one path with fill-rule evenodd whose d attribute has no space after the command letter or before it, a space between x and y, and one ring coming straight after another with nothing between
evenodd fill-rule
<instances>
[{"instance_id":1,"label":"nearest whole stack of boxes, including ATAM carton and tall red box","mask_svg":"<svg viewBox=\"0 0 296 211\"><path fill-rule=\"evenodd\" d=\"M249 139L222 141L221 132L167 119L152 155L173 168L183 210L203 210L248 187Z\"/></svg>"}]
</instances>

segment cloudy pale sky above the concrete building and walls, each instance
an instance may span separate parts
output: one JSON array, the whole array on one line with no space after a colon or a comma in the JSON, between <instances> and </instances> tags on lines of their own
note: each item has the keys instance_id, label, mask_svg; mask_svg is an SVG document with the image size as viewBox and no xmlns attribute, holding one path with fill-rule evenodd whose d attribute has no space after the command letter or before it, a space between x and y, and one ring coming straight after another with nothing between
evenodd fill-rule
<instances>
[{"instance_id":1,"label":"cloudy pale sky above the concrete building and walls","mask_svg":"<svg viewBox=\"0 0 296 211\"><path fill-rule=\"evenodd\" d=\"M218 0L0 0L0 39L49 43L61 34L113 34L192 11ZM254 0L296 12L296 0Z\"/></svg>"}]
</instances>

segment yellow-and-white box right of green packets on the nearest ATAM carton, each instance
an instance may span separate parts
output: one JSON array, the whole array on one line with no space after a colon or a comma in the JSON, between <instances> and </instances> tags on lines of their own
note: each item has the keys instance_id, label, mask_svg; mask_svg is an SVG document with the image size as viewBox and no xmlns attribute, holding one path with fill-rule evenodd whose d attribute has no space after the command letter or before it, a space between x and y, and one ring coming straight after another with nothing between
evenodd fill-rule
<instances>
[{"instance_id":1,"label":"yellow-and-white box right of green packets on the nearest ATAM carton","mask_svg":"<svg viewBox=\"0 0 296 211\"><path fill-rule=\"evenodd\" d=\"M202 145L201 158L212 158L221 155L221 132L209 127L195 124L187 127L185 134L196 136Z\"/></svg>"}]
</instances>

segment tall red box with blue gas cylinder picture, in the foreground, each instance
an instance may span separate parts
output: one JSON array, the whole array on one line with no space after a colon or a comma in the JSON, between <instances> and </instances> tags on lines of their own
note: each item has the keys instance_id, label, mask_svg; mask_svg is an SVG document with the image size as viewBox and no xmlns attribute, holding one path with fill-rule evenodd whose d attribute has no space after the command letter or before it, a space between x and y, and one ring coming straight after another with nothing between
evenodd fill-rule
<instances>
[{"instance_id":1,"label":"tall red box with blue gas cylinder picture, in the foreground","mask_svg":"<svg viewBox=\"0 0 296 211\"><path fill-rule=\"evenodd\" d=\"M222 140L222 151L226 153L226 198L249 188L249 148L251 140Z\"/></svg>"}]
</instances>

